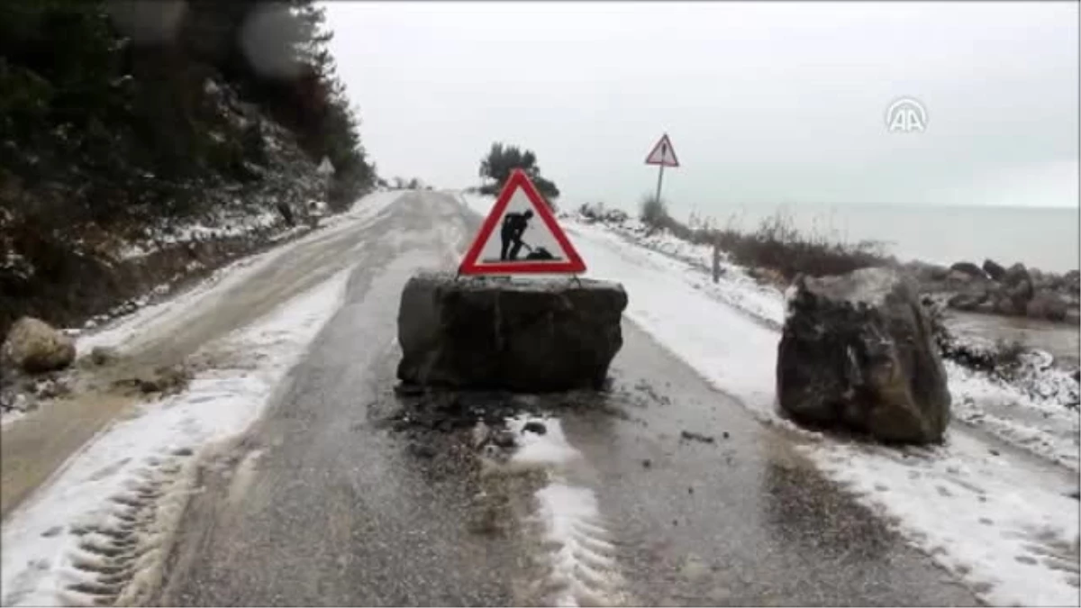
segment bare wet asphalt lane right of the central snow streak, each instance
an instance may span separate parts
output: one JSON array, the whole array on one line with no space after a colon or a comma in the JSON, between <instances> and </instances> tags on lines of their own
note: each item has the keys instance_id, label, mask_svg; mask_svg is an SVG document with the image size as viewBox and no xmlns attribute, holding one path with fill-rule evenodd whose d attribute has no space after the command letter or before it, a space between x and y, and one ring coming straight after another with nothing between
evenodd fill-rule
<instances>
[{"instance_id":1,"label":"bare wet asphalt lane right of the central snow streak","mask_svg":"<svg viewBox=\"0 0 1081 608\"><path fill-rule=\"evenodd\" d=\"M815 471L798 438L629 322L624 338L604 407L566 412L562 426L585 454L577 478L598 494L635 603L976 604Z\"/></svg>"}]
</instances>

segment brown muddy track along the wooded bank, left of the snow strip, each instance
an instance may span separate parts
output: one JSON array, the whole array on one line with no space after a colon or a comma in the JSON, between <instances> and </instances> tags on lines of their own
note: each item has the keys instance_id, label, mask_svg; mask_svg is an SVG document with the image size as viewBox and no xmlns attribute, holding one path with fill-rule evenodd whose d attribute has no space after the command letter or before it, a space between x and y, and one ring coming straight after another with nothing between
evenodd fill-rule
<instances>
[{"instance_id":1,"label":"brown muddy track along the wooded bank, left of the snow strip","mask_svg":"<svg viewBox=\"0 0 1081 608\"><path fill-rule=\"evenodd\" d=\"M335 225L241 260L115 329L80 339L80 353L109 345L120 347L123 357L116 366L88 372L76 398L58 400L0 429L0 516L6 516L95 434L137 407L135 396L114 389L114 381L178 364L216 338L244 328L351 267L364 247L358 233L397 196L368 197L355 211L336 217Z\"/></svg>"}]
</instances>

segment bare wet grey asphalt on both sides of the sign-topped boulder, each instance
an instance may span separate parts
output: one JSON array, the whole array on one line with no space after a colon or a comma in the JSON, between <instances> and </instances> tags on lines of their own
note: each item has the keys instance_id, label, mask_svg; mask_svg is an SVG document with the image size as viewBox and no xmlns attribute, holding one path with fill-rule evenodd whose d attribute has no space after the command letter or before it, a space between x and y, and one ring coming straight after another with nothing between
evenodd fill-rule
<instances>
[{"instance_id":1,"label":"bare wet grey asphalt on both sides of the sign-topped boulder","mask_svg":"<svg viewBox=\"0 0 1081 608\"><path fill-rule=\"evenodd\" d=\"M415 269L452 267L477 224L453 198L415 193L349 234L362 246L348 248L359 264L345 305L264 420L203 463L155 604L530 605L559 584L544 580L551 547L529 525L543 481L482 475L468 428L388 422L405 407L393 391L400 290ZM612 391L571 408L521 400L559 410L584 457L573 481L604 517L611 559L595 570L619 574L584 579L576 599L976 603L818 475L796 439L633 326L624 338Z\"/></svg>"}]
</instances>

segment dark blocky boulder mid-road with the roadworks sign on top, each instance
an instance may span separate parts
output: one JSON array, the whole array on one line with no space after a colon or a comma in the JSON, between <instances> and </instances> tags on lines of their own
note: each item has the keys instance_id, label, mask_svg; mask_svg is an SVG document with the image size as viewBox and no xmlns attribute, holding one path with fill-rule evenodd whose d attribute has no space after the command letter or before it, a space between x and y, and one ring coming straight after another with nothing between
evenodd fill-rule
<instances>
[{"instance_id":1,"label":"dark blocky boulder mid-road with the roadworks sign on top","mask_svg":"<svg viewBox=\"0 0 1081 608\"><path fill-rule=\"evenodd\" d=\"M528 393L599 388L623 346L626 307L613 282L422 274L402 291L398 378Z\"/></svg>"}]
</instances>

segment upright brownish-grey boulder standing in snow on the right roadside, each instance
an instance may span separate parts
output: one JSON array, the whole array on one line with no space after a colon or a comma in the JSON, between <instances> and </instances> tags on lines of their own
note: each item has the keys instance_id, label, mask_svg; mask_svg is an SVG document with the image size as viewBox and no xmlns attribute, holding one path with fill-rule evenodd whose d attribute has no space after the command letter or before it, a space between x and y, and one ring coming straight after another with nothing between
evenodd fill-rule
<instances>
[{"instance_id":1,"label":"upright brownish-grey boulder standing in snow on the right roadside","mask_svg":"<svg viewBox=\"0 0 1081 608\"><path fill-rule=\"evenodd\" d=\"M777 397L797 422L935 442L950 418L946 371L916 287L888 268L799 277L777 347Z\"/></svg>"}]
</instances>

